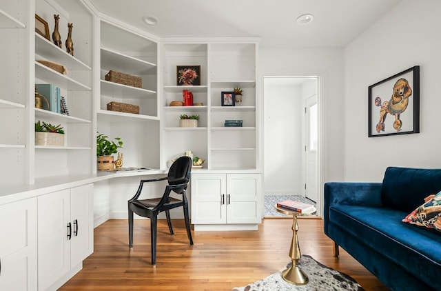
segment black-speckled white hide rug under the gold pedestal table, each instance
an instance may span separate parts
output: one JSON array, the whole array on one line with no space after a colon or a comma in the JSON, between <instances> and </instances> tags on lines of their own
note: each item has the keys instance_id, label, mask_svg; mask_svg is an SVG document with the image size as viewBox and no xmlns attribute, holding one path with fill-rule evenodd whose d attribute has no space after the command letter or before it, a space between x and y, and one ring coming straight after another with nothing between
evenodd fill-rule
<instances>
[{"instance_id":1,"label":"black-speckled white hide rug under the gold pedestal table","mask_svg":"<svg viewBox=\"0 0 441 291\"><path fill-rule=\"evenodd\" d=\"M291 262L287 267L291 265ZM318 261L314 260L308 255L302 255L302 259L298 261L300 269L307 274L309 283L306 285L292 285L287 283L282 278L282 270L269 275L268 277L251 283L245 287L236 287L232 291L317 291L317 290L349 290L349 291L362 291L364 290L360 284L347 274L343 274L336 270L333 270Z\"/></svg>"}]
</instances>

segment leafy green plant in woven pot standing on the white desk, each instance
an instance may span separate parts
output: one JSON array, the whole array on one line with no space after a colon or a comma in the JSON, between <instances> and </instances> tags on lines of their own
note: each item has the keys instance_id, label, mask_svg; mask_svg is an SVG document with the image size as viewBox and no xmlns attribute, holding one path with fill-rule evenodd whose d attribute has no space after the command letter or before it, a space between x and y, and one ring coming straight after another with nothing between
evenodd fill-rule
<instances>
[{"instance_id":1,"label":"leafy green plant in woven pot standing on the white desk","mask_svg":"<svg viewBox=\"0 0 441 291\"><path fill-rule=\"evenodd\" d=\"M99 133L99 132L97 132ZM105 134L96 135L96 163L98 170L113 170L114 157L119 148L123 148L123 141L120 137L115 137L115 141L111 141Z\"/></svg>"}]
</instances>

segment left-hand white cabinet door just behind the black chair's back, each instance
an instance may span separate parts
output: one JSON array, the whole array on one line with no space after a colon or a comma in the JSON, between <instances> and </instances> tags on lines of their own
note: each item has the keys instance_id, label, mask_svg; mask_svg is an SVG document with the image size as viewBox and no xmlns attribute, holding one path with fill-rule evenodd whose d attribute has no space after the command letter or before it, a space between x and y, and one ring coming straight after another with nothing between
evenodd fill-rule
<instances>
[{"instance_id":1,"label":"left-hand white cabinet door just behind the black chair's back","mask_svg":"<svg viewBox=\"0 0 441 291\"><path fill-rule=\"evenodd\" d=\"M192 174L192 223L225 223L225 190L225 174Z\"/></svg>"}]
</instances>

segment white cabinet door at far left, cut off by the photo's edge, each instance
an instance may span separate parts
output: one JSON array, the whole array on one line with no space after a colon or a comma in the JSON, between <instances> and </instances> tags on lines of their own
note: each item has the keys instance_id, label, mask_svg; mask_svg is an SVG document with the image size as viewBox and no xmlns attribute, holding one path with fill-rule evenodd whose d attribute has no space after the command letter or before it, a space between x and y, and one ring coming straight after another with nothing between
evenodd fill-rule
<instances>
[{"instance_id":1,"label":"white cabinet door at far left, cut off by the photo's edge","mask_svg":"<svg viewBox=\"0 0 441 291\"><path fill-rule=\"evenodd\" d=\"M37 199L0 206L0 290L37 290Z\"/></svg>"}]
</instances>

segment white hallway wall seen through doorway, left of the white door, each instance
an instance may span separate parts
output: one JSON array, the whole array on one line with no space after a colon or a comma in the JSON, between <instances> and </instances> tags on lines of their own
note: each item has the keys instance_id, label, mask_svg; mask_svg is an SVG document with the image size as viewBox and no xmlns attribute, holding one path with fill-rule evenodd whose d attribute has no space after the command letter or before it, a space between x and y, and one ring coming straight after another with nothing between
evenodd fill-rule
<instances>
[{"instance_id":1,"label":"white hallway wall seen through doorway, left of the white door","mask_svg":"<svg viewBox=\"0 0 441 291\"><path fill-rule=\"evenodd\" d=\"M302 99L293 78L263 83L265 194L302 193Z\"/></svg>"}]
</instances>

